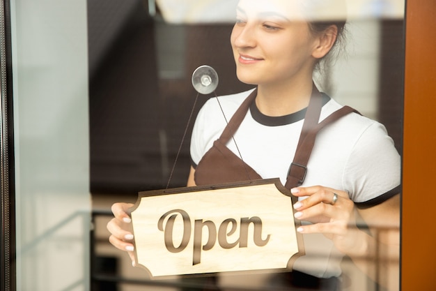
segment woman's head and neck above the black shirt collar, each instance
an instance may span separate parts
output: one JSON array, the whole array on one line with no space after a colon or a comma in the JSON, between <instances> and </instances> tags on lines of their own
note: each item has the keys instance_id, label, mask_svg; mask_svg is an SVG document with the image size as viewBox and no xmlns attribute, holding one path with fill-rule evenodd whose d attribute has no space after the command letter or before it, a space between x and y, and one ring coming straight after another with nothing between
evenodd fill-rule
<instances>
[{"instance_id":1,"label":"woman's head and neck above the black shirt collar","mask_svg":"<svg viewBox=\"0 0 436 291\"><path fill-rule=\"evenodd\" d=\"M286 115L309 104L313 67L336 40L338 29L333 25L322 31L322 38L311 33L299 8L296 1L240 1L238 5L231 36L236 73L240 81L258 85L260 109L266 106L265 98L277 98L278 102L268 104L280 111L270 108L267 114ZM287 99L283 94L293 102L281 102Z\"/></svg>"}]
</instances>

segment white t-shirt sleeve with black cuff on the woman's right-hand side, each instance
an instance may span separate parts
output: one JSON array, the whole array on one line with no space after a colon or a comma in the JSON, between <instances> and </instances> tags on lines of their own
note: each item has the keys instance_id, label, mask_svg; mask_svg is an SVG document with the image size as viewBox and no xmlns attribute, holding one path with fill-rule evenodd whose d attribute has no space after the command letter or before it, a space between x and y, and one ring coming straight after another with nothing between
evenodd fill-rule
<instances>
[{"instance_id":1,"label":"white t-shirt sleeve with black cuff on the woman's right-hand side","mask_svg":"<svg viewBox=\"0 0 436 291\"><path fill-rule=\"evenodd\" d=\"M369 207L398 194L400 165L394 141L374 122L361 133L343 173L350 198L358 207Z\"/></svg>"}]
</instances>

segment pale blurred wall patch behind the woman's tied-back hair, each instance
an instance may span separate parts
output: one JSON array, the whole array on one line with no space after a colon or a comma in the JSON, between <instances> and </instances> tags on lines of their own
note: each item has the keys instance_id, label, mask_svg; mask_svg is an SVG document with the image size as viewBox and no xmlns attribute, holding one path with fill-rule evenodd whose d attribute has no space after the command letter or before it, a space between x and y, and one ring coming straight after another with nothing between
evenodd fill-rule
<instances>
[{"instance_id":1,"label":"pale blurred wall patch behind the woman's tied-back hair","mask_svg":"<svg viewBox=\"0 0 436 291\"><path fill-rule=\"evenodd\" d=\"M349 105L372 119L377 118L380 80L380 21L354 20L347 24L345 48L314 80L342 105Z\"/></svg>"}]
</instances>

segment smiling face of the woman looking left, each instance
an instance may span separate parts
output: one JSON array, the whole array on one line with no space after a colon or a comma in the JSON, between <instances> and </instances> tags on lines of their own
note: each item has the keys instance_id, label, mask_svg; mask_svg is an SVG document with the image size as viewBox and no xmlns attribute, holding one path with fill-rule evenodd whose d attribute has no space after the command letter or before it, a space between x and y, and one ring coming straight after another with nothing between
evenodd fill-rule
<instances>
[{"instance_id":1,"label":"smiling face of the woman looking left","mask_svg":"<svg viewBox=\"0 0 436 291\"><path fill-rule=\"evenodd\" d=\"M316 38L299 0L240 0L231 45L241 82L279 84L312 76Z\"/></svg>"}]
</instances>

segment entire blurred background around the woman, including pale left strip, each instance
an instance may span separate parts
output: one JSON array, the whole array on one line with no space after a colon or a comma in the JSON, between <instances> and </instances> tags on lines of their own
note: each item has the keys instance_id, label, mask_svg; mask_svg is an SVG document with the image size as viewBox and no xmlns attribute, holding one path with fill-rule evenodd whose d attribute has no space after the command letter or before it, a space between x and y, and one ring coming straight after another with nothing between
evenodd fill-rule
<instances>
[{"instance_id":1,"label":"entire blurred background around the woman, including pale left strip","mask_svg":"<svg viewBox=\"0 0 436 291\"><path fill-rule=\"evenodd\" d=\"M193 107L195 68L217 70L218 95L251 88L235 77L236 3L10 1L17 290L180 290L179 280L150 281L133 268L108 243L106 223L114 202L185 186L187 121L210 97ZM314 76L338 102L385 124L400 153L403 16L402 0L348 1L345 51ZM343 264L345 290L380 290Z\"/></svg>"}]
</instances>

